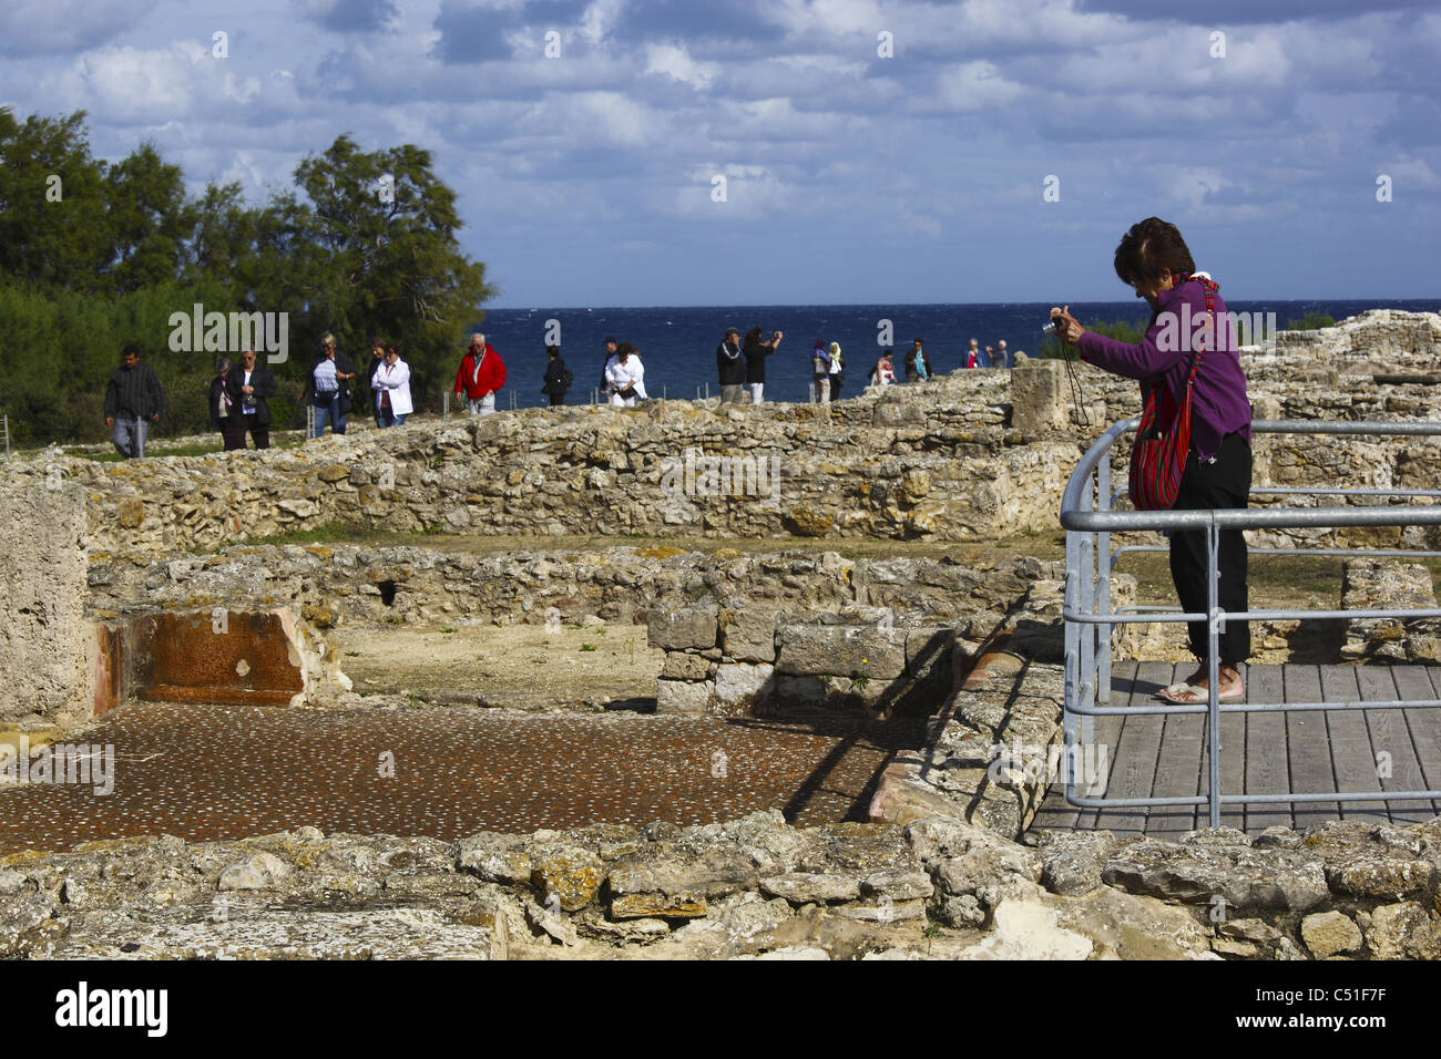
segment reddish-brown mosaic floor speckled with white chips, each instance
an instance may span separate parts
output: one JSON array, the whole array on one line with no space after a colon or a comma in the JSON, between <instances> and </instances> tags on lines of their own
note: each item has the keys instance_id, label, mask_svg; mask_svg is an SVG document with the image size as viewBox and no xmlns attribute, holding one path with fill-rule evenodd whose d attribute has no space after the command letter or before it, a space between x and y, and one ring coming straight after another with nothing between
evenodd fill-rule
<instances>
[{"instance_id":1,"label":"reddish-brown mosaic floor speckled with white chips","mask_svg":"<svg viewBox=\"0 0 1441 1059\"><path fill-rule=\"evenodd\" d=\"M0 852L169 833L533 831L687 826L780 808L863 820L924 720L759 720L455 710L134 705L81 736L114 746L114 790L0 788Z\"/></svg>"}]
</instances>

